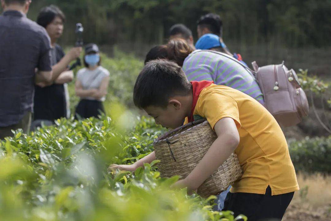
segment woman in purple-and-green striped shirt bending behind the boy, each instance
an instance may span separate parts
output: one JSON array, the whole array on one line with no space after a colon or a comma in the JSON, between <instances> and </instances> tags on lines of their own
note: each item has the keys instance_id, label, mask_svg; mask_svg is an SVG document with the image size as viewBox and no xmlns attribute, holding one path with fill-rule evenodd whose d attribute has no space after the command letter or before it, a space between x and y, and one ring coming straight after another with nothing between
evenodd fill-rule
<instances>
[{"instance_id":1,"label":"woman in purple-and-green striped shirt bending behind the boy","mask_svg":"<svg viewBox=\"0 0 331 221\"><path fill-rule=\"evenodd\" d=\"M263 94L253 74L235 58L213 50L193 51L183 39L152 48L145 63L157 58L175 61L191 81L213 81L240 90L264 104Z\"/></svg>"}]
</instances>

